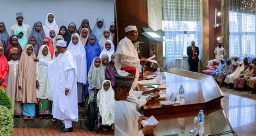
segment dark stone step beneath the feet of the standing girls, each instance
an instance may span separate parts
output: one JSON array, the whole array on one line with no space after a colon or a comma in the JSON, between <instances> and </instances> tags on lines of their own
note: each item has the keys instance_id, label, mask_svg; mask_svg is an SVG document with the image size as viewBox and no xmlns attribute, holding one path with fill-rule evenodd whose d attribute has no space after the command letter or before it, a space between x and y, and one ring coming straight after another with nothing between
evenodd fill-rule
<instances>
[{"instance_id":1,"label":"dark stone step beneath the feet of the standing girls","mask_svg":"<svg viewBox=\"0 0 256 136\"><path fill-rule=\"evenodd\" d=\"M78 122L72 122L73 128L86 128L87 108L78 108ZM14 118L15 128L60 128L60 120L52 121L52 117L40 119L35 117L34 120L24 120L23 118Z\"/></svg>"}]
</instances>

